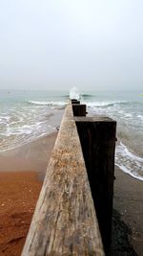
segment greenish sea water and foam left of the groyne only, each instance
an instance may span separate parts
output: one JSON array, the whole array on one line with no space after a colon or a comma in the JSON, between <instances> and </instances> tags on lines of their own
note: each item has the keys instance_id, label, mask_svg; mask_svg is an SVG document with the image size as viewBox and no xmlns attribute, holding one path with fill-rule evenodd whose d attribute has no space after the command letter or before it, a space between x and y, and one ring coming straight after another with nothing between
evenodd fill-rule
<instances>
[{"instance_id":1,"label":"greenish sea water and foam left of the groyne only","mask_svg":"<svg viewBox=\"0 0 143 256\"><path fill-rule=\"evenodd\" d=\"M0 91L0 151L55 131L65 104L60 93Z\"/></svg>"}]
</instances>

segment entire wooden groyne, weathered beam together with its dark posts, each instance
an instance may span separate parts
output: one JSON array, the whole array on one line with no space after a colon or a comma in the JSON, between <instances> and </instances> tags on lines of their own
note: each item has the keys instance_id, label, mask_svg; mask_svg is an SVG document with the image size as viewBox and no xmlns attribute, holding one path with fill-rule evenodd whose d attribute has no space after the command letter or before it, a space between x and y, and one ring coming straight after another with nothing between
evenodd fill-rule
<instances>
[{"instance_id":1,"label":"entire wooden groyne, weathered beam together with its dark posts","mask_svg":"<svg viewBox=\"0 0 143 256\"><path fill-rule=\"evenodd\" d=\"M80 110L78 112L76 109L75 114L79 116L82 111L83 117L75 118L72 107L74 107L72 103L66 107L22 256L105 255L99 226L100 230L103 230L104 227L109 228L110 225L108 232L101 231L106 248L106 243L108 244L109 241L107 240L107 242L105 237L111 236L112 210L109 208L112 207L112 157L114 158L113 145L115 144L115 138L112 139L112 136L115 131L113 129L112 131L111 129L107 130L108 134L112 135L108 135L106 139L103 136L105 140L100 148L99 141L97 147L93 146L96 138L98 140L101 138L100 132L91 137L92 128L89 127L85 132L85 138L88 142L85 146L84 132L81 132L81 129L86 128L85 126L89 124L89 121L87 123L84 121L86 108L79 105ZM94 122L96 121L94 120ZM99 120L97 122L100 123ZM115 128L115 122L109 120L108 122L112 123ZM97 125L96 129L99 127ZM112 128L112 125L109 128ZM108 152L109 146L111 146L110 152ZM86 147L88 151L91 147L88 155L85 152ZM104 153L104 147L106 153ZM96 165L93 159L96 161L101 151L103 151L103 162L105 157L105 164L101 163L102 157L100 156L100 161ZM92 159L94 152L95 157L93 156ZM109 162L108 157L111 157ZM94 162L92 166L90 165L91 159ZM111 161L112 164L110 164ZM97 171L100 163L102 167ZM112 171L110 171L111 168ZM93 174L94 170L95 175ZM92 175L90 176L91 172ZM103 175L104 182L101 181L101 175ZM98 184L98 178L103 183L102 185ZM106 182L106 178L109 179L108 182ZM104 186L105 188L103 188ZM106 192L108 196L106 196ZM100 203L96 193L100 199L104 199L103 203ZM104 198L105 196L106 198ZM96 198L98 198L97 203L95 203ZM94 210L94 205L97 207L97 211ZM104 214L102 212L105 209L107 210L107 218L105 212ZM100 214L102 216L100 221L105 218L103 224L99 223L98 225L99 220L97 221L96 212L98 212L98 218ZM108 218L110 221L107 220ZM106 221L108 221L107 225L105 225Z\"/></svg>"}]
</instances>

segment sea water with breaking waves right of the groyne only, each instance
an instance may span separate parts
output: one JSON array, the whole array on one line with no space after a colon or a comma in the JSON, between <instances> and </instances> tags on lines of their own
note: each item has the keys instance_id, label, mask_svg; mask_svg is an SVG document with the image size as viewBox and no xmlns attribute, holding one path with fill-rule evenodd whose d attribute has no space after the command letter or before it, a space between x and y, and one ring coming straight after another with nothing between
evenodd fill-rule
<instances>
[{"instance_id":1,"label":"sea water with breaking waves right of the groyne only","mask_svg":"<svg viewBox=\"0 0 143 256\"><path fill-rule=\"evenodd\" d=\"M92 92L83 95L90 115L117 122L115 165L143 180L143 96L137 91ZM107 130L108 132L108 130Z\"/></svg>"}]
</instances>

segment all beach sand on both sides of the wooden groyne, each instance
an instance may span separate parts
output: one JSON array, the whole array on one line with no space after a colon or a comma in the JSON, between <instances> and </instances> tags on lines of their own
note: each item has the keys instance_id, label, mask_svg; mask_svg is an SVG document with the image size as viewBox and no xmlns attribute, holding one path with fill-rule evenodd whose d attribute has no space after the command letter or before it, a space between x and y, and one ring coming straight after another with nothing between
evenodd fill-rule
<instances>
[{"instance_id":1,"label":"all beach sand on both sides of the wooden groyne","mask_svg":"<svg viewBox=\"0 0 143 256\"><path fill-rule=\"evenodd\" d=\"M0 154L0 256L21 254L56 135ZM142 199L142 182L116 168L112 255L143 255Z\"/></svg>"}]
</instances>

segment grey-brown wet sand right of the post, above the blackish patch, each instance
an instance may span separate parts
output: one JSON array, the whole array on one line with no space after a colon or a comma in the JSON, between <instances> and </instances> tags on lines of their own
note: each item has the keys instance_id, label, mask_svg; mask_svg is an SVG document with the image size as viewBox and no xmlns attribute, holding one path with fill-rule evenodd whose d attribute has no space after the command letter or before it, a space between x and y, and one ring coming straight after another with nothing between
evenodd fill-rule
<instances>
[{"instance_id":1,"label":"grey-brown wet sand right of the post, above the blackish patch","mask_svg":"<svg viewBox=\"0 0 143 256\"><path fill-rule=\"evenodd\" d=\"M113 208L127 225L128 239L136 254L143 256L143 182L118 168L115 168Z\"/></svg>"}]
</instances>

